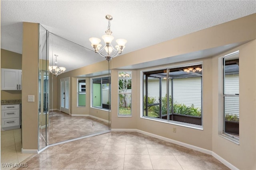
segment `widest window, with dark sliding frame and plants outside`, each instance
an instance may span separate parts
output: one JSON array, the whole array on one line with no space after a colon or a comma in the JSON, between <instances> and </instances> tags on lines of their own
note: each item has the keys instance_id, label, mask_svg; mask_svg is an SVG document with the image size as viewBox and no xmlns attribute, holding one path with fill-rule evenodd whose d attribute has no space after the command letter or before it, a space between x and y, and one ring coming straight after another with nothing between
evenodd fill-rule
<instances>
[{"instance_id":1,"label":"widest window, with dark sliding frame and plants outside","mask_svg":"<svg viewBox=\"0 0 256 170\"><path fill-rule=\"evenodd\" d=\"M202 125L202 64L143 74L143 116Z\"/></svg>"}]
</instances>

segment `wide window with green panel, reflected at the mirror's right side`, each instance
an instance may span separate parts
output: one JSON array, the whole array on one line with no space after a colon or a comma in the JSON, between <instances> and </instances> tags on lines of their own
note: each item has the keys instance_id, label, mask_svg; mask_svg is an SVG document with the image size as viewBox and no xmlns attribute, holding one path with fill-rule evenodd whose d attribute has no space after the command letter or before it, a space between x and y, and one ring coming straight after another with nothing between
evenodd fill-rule
<instances>
[{"instance_id":1,"label":"wide window with green panel, reflected at the mirror's right side","mask_svg":"<svg viewBox=\"0 0 256 170\"><path fill-rule=\"evenodd\" d=\"M110 78L92 78L92 107L110 108Z\"/></svg>"}]
</instances>

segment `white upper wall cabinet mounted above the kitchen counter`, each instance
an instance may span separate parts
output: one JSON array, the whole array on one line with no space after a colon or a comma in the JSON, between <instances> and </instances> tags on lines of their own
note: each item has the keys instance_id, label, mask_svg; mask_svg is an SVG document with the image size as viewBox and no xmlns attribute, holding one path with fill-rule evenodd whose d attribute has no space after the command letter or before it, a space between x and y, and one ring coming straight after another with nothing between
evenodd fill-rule
<instances>
[{"instance_id":1,"label":"white upper wall cabinet mounted above the kitchen counter","mask_svg":"<svg viewBox=\"0 0 256 170\"><path fill-rule=\"evenodd\" d=\"M1 90L22 90L22 70L1 68Z\"/></svg>"}]
</instances>

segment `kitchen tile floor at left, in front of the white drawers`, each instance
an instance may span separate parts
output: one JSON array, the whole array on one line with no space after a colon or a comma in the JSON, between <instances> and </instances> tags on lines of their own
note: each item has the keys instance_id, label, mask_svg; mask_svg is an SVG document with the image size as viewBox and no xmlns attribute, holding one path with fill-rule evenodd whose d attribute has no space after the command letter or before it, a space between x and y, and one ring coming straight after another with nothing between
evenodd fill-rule
<instances>
[{"instance_id":1,"label":"kitchen tile floor at left, in front of the white drawers","mask_svg":"<svg viewBox=\"0 0 256 170\"><path fill-rule=\"evenodd\" d=\"M1 163L17 164L26 160L33 154L21 153L21 129L1 131ZM1 170L9 170L8 167L2 167Z\"/></svg>"}]
</instances>

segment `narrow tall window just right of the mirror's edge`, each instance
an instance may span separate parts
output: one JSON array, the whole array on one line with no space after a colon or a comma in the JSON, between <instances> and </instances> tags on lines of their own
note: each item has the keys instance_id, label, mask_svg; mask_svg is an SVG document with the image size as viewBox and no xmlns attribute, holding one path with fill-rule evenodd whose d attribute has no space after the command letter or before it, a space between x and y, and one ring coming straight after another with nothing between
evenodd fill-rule
<instances>
[{"instance_id":1,"label":"narrow tall window just right of the mirror's edge","mask_svg":"<svg viewBox=\"0 0 256 170\"><path fill-rule=\"evenodd\" d=\"M132 115L132 72L118 72L118 115Z\"/></svg>"}]
</instances>

